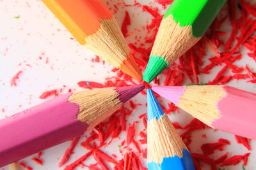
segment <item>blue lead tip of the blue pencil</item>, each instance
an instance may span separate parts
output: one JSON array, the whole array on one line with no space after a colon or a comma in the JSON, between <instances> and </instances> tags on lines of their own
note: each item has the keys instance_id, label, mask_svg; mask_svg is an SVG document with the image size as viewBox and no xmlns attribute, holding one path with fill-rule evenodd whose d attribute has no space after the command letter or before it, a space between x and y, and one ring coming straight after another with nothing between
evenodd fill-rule
<instances>
[{"instance_id":1,"label":"blue lead tip of the blue pencil","mask_svg":"<svg viewBox=\"0 0 256 170\"><path fill-rule=\"evenodd\" d=\"M164 115L164 111L161 108L159 102L157 101L156 97L154 96L151 89L147 90L147 104L148 104L148 122L153 118L159 120L161 115Z\"/></svg>"}]
</instances>

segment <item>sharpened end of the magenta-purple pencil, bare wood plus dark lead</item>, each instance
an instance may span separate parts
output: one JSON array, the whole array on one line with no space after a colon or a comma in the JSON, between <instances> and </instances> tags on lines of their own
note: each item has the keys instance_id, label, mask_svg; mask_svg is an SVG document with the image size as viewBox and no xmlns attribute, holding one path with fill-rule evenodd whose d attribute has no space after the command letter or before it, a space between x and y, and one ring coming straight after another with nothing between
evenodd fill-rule
<instances>
[{"instance_id":1,"label":"sharpened end of the magenta-purple pencil, bare wood plus dark lead","mask_svg":"<svg viewBox=\"0 0 256 170\"><path fill-rule=\"evenodd\" d=\"M77 120L88 124L89 131L144 88L144 85L134 85L85 90L74 92L68 101L79 105Z\"/></svg>"}]
</instances>

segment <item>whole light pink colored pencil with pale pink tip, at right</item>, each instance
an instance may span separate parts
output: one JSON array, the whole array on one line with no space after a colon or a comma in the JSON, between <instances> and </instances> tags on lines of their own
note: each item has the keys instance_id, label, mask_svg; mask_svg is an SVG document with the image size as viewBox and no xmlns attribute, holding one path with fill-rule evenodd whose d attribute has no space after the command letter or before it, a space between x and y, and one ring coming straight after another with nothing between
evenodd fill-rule
<instances>
[{"instance_id":1,"label":"whole light pink colored pencil with pale pink tip, at right","mask_svg":"<svg viewBox=\"0 0 256 170\"><path fill-rule=\"evenodd\" d=\"M227 85L152 89L214 129L256 139L256 94Z\"/></svg>"}]
</instances>

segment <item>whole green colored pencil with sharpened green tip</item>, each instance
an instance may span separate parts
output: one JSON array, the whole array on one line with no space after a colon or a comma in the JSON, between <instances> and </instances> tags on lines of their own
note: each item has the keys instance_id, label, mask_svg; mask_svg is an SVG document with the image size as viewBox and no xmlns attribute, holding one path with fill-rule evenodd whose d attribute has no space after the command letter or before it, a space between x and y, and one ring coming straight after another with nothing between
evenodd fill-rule
<instances>
[{"instance_id":1,"label":"whole green colored pencil with sharpened green tip","mask_svg":"<svg viewBox=\"0 0 256 170\"><path fill-rule=\"evenodd\" d=\"M143 74L148 83L195 45L226 0L175 0L165 13Z\"/></svg>"}]
</instances>

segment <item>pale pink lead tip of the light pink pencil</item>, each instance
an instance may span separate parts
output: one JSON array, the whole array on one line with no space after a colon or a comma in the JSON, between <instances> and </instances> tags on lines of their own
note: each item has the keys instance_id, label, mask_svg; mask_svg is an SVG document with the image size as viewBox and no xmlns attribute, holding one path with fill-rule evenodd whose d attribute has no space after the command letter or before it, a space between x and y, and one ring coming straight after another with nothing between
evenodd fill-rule
<instances>
[{"instance_id":1,"label":"pale pink lead tip of the light pink pencil","mask_svg":"<svg viewBox=\"0 0 256 170\"><path fill-rule=\"evenodd\" d=\"M153 86L152 90L174 104L179 104L180 96L184 94L185 86Z\"/></svg>"}]
</instances>

